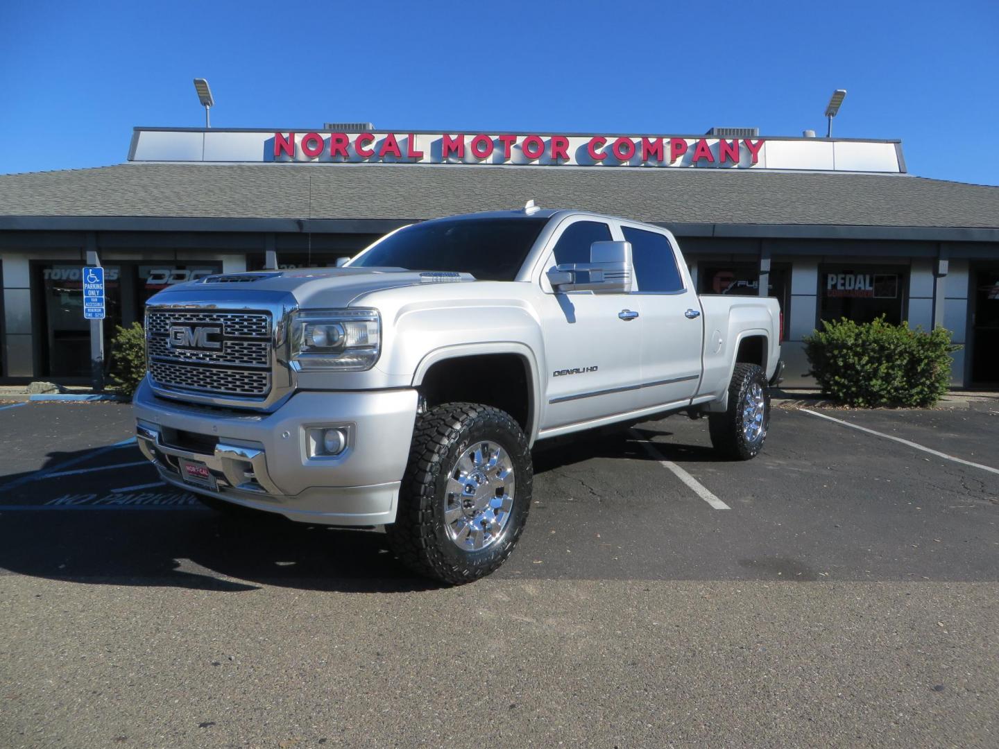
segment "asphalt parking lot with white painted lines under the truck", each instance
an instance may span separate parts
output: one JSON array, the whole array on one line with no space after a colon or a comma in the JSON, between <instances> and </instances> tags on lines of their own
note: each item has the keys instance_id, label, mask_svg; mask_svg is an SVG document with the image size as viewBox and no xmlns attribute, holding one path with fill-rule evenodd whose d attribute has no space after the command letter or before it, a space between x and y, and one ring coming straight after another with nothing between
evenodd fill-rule
<instances>
[{"instance_id":1,"label":"asphalt parking lot with white painted lines under the truck","mask_svg":"<svg viewBox=\"0 0 999 749\"><path fill-rule=\"evenodd\" d=\"M0 404L0 745L999 743L999 407L539 447L513 556L452 589L203 509L132 433Z\"/></svg>"}]
</instances>

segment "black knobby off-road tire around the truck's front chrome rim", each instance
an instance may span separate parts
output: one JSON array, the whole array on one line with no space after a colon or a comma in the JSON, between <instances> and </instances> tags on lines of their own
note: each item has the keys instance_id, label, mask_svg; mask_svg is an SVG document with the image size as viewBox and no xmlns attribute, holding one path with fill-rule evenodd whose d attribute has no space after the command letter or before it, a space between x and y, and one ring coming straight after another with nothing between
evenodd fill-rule
<instances>
[{"instance_id":1,"label":"black knobby off-road tire around the truck's front chrome rim","mask_svg":"<svg viewBox=\"0 0 999 749\"><path fill-rule=\"evenodd\" d=\"M448 478L462 453L491 440L509 455L515 475L513 506L500 537L478 551L448 536L444 511ZM396 522L387 526L396 556L418 574L450 585L478 580L502 564L516 545L530 509L533 467L527 438L500 408L445 403L417 416Z\"/></svg>"}]
</instances>

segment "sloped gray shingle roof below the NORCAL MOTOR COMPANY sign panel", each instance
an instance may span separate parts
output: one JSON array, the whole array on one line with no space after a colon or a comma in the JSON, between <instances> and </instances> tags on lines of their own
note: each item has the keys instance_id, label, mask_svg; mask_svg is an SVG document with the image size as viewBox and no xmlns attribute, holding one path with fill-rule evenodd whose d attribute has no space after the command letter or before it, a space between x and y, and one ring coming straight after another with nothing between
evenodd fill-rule
<instances>
[{"instance_id":1,"label":"sloped gray shingle roof below the NORCAL MOTOR COMPANY sign panel","mask_svg":"<svg viewBox=\"0 0 999 749\"><path fill-rule=\"evenodd\" d=\"M999 228L999 188L908 176L294 164L0 176L0 217L428 219L528 198L665 224Z\"/></svg>"}]
</instances>

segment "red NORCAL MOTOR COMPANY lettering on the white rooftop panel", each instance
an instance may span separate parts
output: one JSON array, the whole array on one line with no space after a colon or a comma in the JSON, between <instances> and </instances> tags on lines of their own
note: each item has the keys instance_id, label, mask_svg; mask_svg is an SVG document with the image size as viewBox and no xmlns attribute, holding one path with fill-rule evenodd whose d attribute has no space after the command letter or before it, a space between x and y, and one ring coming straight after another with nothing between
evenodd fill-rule
<instances>
[{"instance_id":1,"label":"red NORCAL MOTOR COMPANY lettering on the white rooftop panel","mask_svg":"<svg viewBox=\"0 0 999 749\"><path fill-rule=\"evenodd\" d=\"M275 133L273 161L752 166L763 139L486 133Z\"/></svg>"}]
</instances>

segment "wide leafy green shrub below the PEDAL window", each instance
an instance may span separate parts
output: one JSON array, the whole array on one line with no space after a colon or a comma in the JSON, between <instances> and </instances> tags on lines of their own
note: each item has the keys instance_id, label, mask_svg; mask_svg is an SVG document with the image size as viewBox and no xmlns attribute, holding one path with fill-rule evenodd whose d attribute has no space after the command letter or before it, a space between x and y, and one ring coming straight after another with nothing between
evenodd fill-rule
<instances>
[{"instance_id":1,"label":"wide leafy green shrub below the PEDAL window","mask_svg":"<svg viewBox=\"0 0 999 749\"><path fill-rule=\"evenodd\" d=\"M822 322L804 339L811 375L822 391L850 405L935 405L950 382L950 331L931 333L845 318Z\"/></svg>"}]
</instances>

